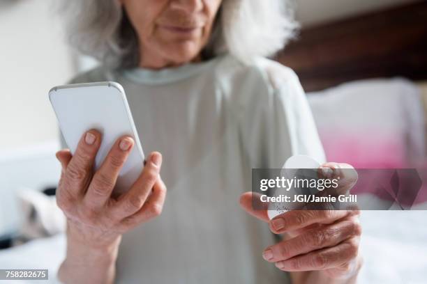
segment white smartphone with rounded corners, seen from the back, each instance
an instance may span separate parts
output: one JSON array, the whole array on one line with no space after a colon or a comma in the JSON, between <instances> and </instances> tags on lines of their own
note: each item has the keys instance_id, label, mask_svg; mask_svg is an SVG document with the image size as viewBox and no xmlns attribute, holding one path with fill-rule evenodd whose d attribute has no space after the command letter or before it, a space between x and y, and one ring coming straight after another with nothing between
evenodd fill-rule
<instances>
[{"instance_id":1,"label":"white smartphone with rounded corners, seen from the back","mask_svg":"<svg viewBox=\"0 0 427 284\"><path fill-rule=\"evenodd\" d=\"M102 134L95 170L120 136L133 137L135 146L121 168L114 194L129 189L144 167L144 152L123 87L115 82L57 86L49 91L49 98L72 154L84 132L97 129Z\"/></svg>"}]
</instances>

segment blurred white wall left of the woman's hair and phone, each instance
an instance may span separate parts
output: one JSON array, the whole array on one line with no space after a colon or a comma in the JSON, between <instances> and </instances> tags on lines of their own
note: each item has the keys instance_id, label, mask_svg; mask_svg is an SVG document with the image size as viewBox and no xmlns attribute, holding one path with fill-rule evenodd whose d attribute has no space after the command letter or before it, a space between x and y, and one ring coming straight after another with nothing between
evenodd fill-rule
<instances>
[{"instance_id":1,"label":"blurred white wall left of the woman's hair and phone","mask_svg":"<svg viewBox=\"0 0 427 284\"><path fill-rule=\"evenodd\" d=\"M0 153L58 137L47 91L75 72L58 1L0 1Z\"/></svg>"}]
</instances>

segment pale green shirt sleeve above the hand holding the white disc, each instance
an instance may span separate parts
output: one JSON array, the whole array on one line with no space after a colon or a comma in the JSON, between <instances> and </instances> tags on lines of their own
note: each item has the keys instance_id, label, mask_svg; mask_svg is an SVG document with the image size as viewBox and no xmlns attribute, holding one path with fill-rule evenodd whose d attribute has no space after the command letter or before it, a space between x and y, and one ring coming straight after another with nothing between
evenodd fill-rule
<instances>
[{"instance_id":1,"label":"pale green shirt sleeve above the hand holding the white disc","mask_svg":"<svg viewBox=\"0 0 427 284\"><path fill-rule=\"evenodd\" d=\"M297 74L278 63L263 66L264 88L244 115L242 139L252 168L282 168L292 155L326 161L313 114Z\"/></svg>"}]
</instances>

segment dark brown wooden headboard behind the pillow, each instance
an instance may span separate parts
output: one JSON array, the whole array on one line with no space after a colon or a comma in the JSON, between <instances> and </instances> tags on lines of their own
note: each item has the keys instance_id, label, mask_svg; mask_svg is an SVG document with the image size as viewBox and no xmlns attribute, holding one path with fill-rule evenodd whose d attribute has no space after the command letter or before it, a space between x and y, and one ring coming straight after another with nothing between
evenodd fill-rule
<instances>
[{"instance_id":1,"label":"dark brown wooden headboard behind the pillow","mask_svg":"<svg viewBox=\"0 0 427 284\"><path fill-rule=\"evenodd\" d=\"M427 1L301 29L276 60L306 91L373 77L427 79Z\"/></svg>"}]
</instances>

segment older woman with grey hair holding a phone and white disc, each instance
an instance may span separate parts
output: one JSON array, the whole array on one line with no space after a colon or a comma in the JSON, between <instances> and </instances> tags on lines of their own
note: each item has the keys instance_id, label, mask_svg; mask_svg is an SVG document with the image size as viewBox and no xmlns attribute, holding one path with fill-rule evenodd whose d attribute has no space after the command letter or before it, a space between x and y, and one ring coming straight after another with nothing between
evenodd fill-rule
<instances>
[{"instance_id":1,"label":"older woman with grey hair holding a phone and white disc","mask_svg":"<svg viewBox=\"0 0 427 284\"><path fill-rule=\"evenodd\" d=\"M96 173L96 129L73 156L57 153L57 200L68 220L61 281L355 281L357 212L301 210L269 222L243 194L251 168L280 168L295 154L324 161L297 76L263 58L295 27L280 3L68 1L73 44L103 62L72 82L119 82L144 150L158 152L119 198L110 195L134 144L129 136Z\"/></svg>"}]
</instances>

